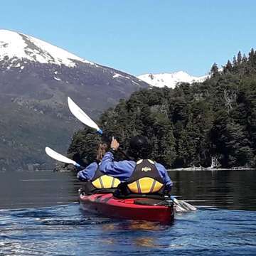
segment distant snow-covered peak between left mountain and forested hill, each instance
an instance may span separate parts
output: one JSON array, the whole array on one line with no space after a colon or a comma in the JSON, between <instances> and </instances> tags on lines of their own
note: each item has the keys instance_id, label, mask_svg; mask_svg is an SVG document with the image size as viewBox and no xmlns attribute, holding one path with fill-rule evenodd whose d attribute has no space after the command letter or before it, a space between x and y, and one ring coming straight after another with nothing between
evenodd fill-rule
<instances>
[{"instance_id":1,"label":"distant snow-covered peak between left mountain and forested hill","mask_svg":"<svg viewBox=\"0 0 256 256\"><path fill-rule=\"evenodd\" d=\"M174 88L178 82L203 82L204 80L206 80L207 77L208 75L194 77L192 75L188 75L188 73L186 72L178 71L175 73L139 75L137 78L144 82L147 82L149 85L153 85L156 87L167 86Z\"/></svg>"}]
</instances>

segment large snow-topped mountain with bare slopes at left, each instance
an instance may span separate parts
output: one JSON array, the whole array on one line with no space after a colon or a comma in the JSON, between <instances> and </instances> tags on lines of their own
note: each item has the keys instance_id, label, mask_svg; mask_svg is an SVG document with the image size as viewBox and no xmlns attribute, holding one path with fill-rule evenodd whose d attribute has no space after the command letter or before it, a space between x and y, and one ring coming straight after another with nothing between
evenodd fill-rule
<instances>
[{"instance_id":1,"label":"large snow-topped mountain with bare slopes at left","mask_svg":"<svg viewBox=\"0 0 256 256\"><path fill-rule=\"evenodd\" d=\"M0 171L50 168L45 146L65 154L81 127L68 110L68 96L95 119L147 87L32 36L0 30Z\"/></svg>"}]
</instances>

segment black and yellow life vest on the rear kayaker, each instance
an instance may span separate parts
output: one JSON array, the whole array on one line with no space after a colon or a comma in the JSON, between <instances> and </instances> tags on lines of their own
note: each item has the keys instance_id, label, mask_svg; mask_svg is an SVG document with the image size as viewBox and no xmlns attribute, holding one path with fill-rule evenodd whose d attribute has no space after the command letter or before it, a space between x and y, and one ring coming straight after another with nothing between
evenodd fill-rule
<instances>
[{"instance_id":1,"label":"black and yellow life vest on the rear kayaker","mask_svg":"<svg viewBox=\"0 0 256 256\"><path fill-rule=\"evenodd\" d=\"M139 160L129 180L124 183L129 193L151 194L163 193L164 181L156 169L154 161Z\"/></svg>"}]
</instances>

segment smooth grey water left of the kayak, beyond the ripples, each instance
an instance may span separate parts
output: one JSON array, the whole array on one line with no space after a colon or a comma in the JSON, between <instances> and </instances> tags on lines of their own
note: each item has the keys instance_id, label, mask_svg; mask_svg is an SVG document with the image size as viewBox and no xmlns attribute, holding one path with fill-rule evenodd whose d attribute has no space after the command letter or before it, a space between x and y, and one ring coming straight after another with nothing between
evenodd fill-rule
<instances>
[{"instance_id":1,"label":"smooth grey water left of the kayak, beyond the ripples","mask_svg":"<svg viewBox=\"0 0 256 256\"><path fill-rule=\"evenodd\" d=\"M77 201L79 185L75 182L70 173L0 173L0 208L33 208Z\"/></svg>"}]
</instances>

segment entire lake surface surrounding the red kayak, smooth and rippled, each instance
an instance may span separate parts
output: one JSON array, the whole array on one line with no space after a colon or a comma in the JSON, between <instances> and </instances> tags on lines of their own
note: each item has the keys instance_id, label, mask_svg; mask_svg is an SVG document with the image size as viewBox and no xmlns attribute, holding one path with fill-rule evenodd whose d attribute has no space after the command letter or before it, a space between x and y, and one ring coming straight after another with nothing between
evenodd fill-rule
<instances>
[{"instance_id":1,"label":"entire lake surface surrounding the red kayak, smooth and rippled","mask_svg":"<svg viewBox=\"0 0 256 256\"><path fill-rule=\"evenodd\" d=\"M170 171L172 225L83 213L68 173L0 173L0 255L256 255L256 171Z\"/></svg>"}]
</instances>

